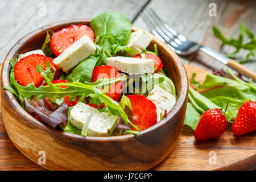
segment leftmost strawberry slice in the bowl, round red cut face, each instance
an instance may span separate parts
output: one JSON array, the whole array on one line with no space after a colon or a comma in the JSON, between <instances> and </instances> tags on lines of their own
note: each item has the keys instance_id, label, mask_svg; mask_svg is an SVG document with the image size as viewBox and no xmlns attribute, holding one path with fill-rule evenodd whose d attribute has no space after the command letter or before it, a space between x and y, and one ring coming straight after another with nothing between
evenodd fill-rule
<instances>
[{"instance_id":1,"label":"leftmost strawberry slice in the bowl, round red cut face","mask_svg":"<svg viewBox=\"0 0 256 182\"><path fill-rule=\"evenodd\" d=\"M44 70L46 70L47 61L49 61L51 67L57 68L57 66L52 63L53 59L51 57L46 57L39 54L32 54L23 57L15 64L15 79L22 86L26 86L34 82L35 87L39 87L44 81L44 78L41 77L41 73L36 72L36 66L40 64L44 67Z\"/></svg>"}]
</instances>

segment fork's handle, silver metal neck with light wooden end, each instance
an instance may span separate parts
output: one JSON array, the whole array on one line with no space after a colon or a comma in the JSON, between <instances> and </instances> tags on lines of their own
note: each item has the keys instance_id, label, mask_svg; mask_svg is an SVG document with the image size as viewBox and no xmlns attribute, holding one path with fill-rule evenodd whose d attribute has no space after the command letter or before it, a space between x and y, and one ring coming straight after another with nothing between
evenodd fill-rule
<instances>
[{"instance_id":1,"label":"fork's handle, silver metal neck with light wooden end","mask_svg":"<svg viewBox=\"0 0 256 182\"><path fill-rule=\"evenodd\" d=\"M209 56L214 57L216 60L220 61L221 63L228 65L228 67L256 81L256 73L251 71L248 68L245 68L242 64L237 63L237 61L234 61L233 59L229 59L228 57L222 55L221 53L218 53L217 51L214 51L213 49L206 46L200 46L199 49L200 51L207 53Z\"/></svg>"}]
</instances>

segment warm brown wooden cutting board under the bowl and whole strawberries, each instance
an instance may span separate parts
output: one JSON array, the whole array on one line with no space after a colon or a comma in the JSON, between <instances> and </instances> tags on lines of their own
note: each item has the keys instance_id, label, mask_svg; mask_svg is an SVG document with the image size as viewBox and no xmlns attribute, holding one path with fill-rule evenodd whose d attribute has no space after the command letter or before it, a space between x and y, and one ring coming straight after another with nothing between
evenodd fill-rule
<instances>
[{"instance_id":1,"label":"warm brown wooden cutting board under the bowl and whole strawberries","mask_svg":"<svg viewBox=\"0 0 256 182\"><path fill-rule=\"evenodd\" d=\"M185 65L188 77L197 73L204 81L207 71ZM45 170L24 156L11 142L0 117L0 170ZM229 124L217 139L198 142L193 131L184 126L171 155L152 170L253 170L256 169L256 132L235 137Z\"/></svg>"}]
</instances>

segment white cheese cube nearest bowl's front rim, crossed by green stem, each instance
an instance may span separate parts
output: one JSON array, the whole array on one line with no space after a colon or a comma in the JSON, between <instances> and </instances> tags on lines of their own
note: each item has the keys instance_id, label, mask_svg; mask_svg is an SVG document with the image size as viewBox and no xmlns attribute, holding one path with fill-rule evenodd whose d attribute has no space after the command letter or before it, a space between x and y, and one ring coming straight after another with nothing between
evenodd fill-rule
<instances>
[{"instance_id":1,"label":"white cheese cube nearest bowl's front rim, crossed by green stem","mask_svg":"<svg viewBox=\"0 0 256 182\"><path fill-rule=\"evenodd\" d=\"M94 107L90 107L82 102L77 103L71 110L69 121L73 126L82 130L85 122L93 112L90 120L87 135L106 137L111 135L118 124L118 117L109 113L100 113Z\"/></svg>"}]
</instances>

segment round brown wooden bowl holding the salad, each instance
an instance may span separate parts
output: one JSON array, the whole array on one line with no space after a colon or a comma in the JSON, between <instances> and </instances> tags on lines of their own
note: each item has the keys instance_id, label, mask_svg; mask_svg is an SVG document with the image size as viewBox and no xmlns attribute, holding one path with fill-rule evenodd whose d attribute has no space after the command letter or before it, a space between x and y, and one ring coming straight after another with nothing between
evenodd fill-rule
<instances>
[{"instance_id":1,"label":"round brown wooden bowl holding the salad","mask_svg":"<svg viewBox=\"0 0 256 182\"><path fill-rule=\"evenodd\" d=\"M1 88L10 86L9 60L20 53L40 49L47 30L58 30L70 24L89 24L90 19L52 23L31 32L11 48L5 58L1 74ZM133 30L139 30L133 27ZM43 161L39 151L46 153L51 170L146 170L160 163L174 150L179 139L187 105L188 79L183 64L170 47L154 38L149 49L158 44L164 68L174 81L177 102L167 117L141 131L138 136L82 137L53 130L28 114L14 95L1 90L2 117L6 131L15 146L35 163Z\"/></svg>"}]
</instances>

